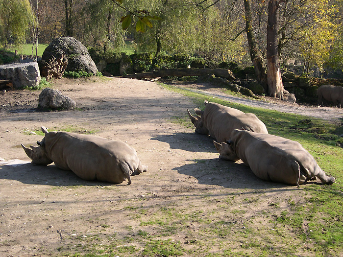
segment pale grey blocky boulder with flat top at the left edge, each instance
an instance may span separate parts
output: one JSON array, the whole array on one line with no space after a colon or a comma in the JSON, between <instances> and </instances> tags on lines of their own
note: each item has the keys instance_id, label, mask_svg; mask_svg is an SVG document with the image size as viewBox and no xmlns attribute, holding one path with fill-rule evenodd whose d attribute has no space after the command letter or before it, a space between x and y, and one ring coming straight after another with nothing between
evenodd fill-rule
<instances>
[{"instance_id":1,"label":"pale grey blocky boulder with flat top at the left edge","mask_svg":"<svg viewBox=\"0 0 343 257\"><path fill-rule=\"evenodd\" d=\"M0 79L11 80L14 88L22 89L37 87L41 74L36 62L13 63L0 66Z\"/></svg>"}]
</instances>

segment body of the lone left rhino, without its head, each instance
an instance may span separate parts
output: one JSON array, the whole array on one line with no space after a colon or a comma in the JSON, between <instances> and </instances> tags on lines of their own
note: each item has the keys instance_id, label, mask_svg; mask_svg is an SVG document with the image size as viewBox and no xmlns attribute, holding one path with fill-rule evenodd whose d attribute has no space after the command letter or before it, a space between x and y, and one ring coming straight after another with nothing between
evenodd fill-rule
<instances>
[{"instance_id":1,"label":"body of the lone left rhino, without its head","mask_svg":"<svg viewBox=\"0 0 343 257\"><path fill-rule=\"evenodd\" d=\"M136 151L122 141L68 132L53 136L46 140L51 145L48 151L51 160L82 179L121 183L125 176L120 163L126 162L133 170L139 165Z\"/></svg>"}]
</instances>

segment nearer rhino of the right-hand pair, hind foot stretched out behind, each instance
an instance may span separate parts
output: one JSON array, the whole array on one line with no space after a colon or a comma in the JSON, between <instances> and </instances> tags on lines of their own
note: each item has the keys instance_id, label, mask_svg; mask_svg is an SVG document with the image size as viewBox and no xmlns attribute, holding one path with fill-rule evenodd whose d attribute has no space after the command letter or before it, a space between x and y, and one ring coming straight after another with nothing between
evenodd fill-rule
<instances>
[{"instance_id":1,"label":"nearer rhino of the right-hand pair, hind foot stretched out behind","mask_svg":"<svg viewBox=\"0 0 343 257\"><path fill-rule=\"evenodd\" d=\"M335 182L335 178L326 176L313 156L296 141L236 129L226 143L213 142L220 153L219 158L234 162L241 159L263 180L297 186L315 177L327 185Z\"/></svg>"}]
</instances>

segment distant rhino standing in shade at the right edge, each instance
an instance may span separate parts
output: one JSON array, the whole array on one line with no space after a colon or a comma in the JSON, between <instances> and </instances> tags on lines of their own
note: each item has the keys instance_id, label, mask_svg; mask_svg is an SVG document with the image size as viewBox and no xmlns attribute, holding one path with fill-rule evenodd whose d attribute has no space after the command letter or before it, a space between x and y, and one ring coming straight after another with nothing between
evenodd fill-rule
<instances>
[{"instance_id":1,"label":"distant rhino standing in shade at the right edge","mask_svg":"<svg viewBox=\"0 0 343 257\"><path fill-rule=\"evenodd\" d=\"M333 85L321 85L317 89L318 105L323 104L323 98L331 101L335 106L343 108L343 87Z\"/></svg>"}]
</instances>

